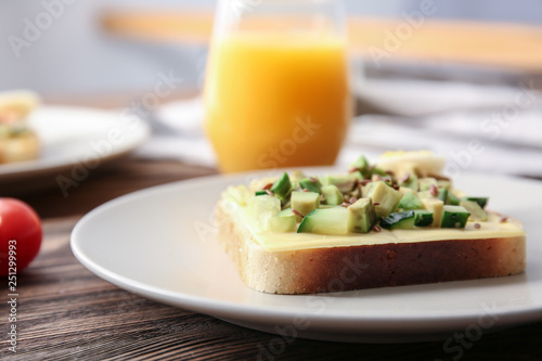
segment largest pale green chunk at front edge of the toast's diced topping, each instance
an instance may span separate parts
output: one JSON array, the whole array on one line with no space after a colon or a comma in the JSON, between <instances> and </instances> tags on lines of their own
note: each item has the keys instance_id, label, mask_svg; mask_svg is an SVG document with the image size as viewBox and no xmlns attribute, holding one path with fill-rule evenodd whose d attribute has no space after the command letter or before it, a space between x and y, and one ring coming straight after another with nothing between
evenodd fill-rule
<instances>
[{"instance_id":1,"label":"largest pale green chunk at front edge of the toast's diced topping","mask_svg":"<svg viewBox=\"0 0 542 361\"><path fill-rule=\"evenodd\" d=\"M341 206L314 209L304 218L297 233L348 234L348 209Z\"/></svg>"}]
</instances>

